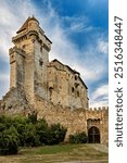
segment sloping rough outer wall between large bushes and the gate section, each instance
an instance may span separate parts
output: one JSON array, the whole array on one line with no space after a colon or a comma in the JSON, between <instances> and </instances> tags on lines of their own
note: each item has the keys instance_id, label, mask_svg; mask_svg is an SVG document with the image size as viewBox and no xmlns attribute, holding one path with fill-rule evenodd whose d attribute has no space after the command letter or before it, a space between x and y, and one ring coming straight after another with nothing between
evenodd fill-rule
<instances>
[{"instance_id":1,"label":"sloping rough outer wall between large bushes and the gate section","mask_svg":"<svg viewBox=\"0 0 127 163\"><path fill-rule=\"evenodd\" d=\"M67 128L67 135L87 130L86 111L71 110L62 105L54 105L51 102L42 100L36 96L35 109L38 112L38 118L45 117L49 124L60 123Z\"/></svg>"}]
</instances>

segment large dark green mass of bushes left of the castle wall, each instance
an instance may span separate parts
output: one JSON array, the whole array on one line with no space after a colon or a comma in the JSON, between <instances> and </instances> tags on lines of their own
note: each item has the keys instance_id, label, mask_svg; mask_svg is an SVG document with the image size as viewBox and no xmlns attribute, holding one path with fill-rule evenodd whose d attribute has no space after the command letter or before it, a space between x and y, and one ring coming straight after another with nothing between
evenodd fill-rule
<instances>
[{"instance_id":1,"label":"large dark green mass of bushes left of the castle wall","mask_svg":"<svg viewBox=\"0 0 127 163\"><path fill-rule=\"evenodd\" d=\"M58 145L64 141L66 128L60 124L48 125L37 115L0 116L0 154L15 154L18 147Z\"/></svg>"}]
</instances>

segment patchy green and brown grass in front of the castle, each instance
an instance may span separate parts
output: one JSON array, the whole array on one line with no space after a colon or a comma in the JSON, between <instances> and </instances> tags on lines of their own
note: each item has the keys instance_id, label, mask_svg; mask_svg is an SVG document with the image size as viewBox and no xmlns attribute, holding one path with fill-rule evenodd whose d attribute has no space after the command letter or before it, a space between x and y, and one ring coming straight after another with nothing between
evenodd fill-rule
<instances>
[{"instance_id":1,"label":"patchy green and brown grass in front of the castle","mask_svg":"<svg viewBox=\"0 0 127 163\"><path fill-rule=\"evenodd\" d=\"M75 163L78 161L86 161L86 163L87 161L94 161L91 163L107 163L107 152L100 151L101 145L98 146L58 145L22 148L16 155L0 156L0 163L64 163L69 161L76 161Z\"/></svg>"}]
</instances>

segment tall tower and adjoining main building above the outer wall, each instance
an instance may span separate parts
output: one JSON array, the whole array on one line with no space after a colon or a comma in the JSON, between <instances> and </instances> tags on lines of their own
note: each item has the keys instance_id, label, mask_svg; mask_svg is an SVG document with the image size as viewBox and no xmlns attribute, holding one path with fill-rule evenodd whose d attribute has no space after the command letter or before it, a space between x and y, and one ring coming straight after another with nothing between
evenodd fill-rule
<instances>
[{"instance_id":1,"label":"tall tower and adjoining main building above the outer wall","mask_svg":"<svg viewBox=\"0 0 127 163\"><path fill-rule=\"evenodd\" d=\"M51 41L39 22L28 17L12 38L10 87L25 91L30 104L38 95L54 104L88 108L87 86L80 74L58 60L49 62Z\"/></svg>"}]
</instances>

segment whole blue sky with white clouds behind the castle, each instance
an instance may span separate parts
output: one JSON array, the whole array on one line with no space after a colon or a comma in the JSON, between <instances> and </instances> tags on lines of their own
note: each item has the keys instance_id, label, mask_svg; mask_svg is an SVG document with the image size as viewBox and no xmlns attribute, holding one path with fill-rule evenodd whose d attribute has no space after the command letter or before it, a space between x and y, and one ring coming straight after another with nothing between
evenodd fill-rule
<instances>
[{"instance_id":1,"label":"whole blue sky with white clouds behind the castle","mask_svg":"<svg viewBox=\"0 0 127 163\"><path fill-rule=\"evenodd\" d=\"M0 0L0 98L10 85L11 38L33 14L53 42L50 61L58 59L80 72L90 106L107 105L107 0Z\"/></svg>"}]
</instances>

